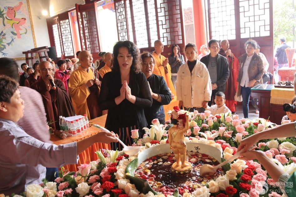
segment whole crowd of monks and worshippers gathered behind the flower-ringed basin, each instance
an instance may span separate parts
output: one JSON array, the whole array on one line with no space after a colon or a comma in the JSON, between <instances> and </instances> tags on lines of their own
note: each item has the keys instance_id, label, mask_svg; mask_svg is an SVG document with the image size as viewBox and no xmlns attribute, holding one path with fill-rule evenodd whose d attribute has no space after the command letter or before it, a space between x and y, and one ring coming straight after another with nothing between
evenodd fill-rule
<instances>
[{"instance_id":1,"label":"whole crowd of monks and worshippers gathered behind the flower-ringed basin","mask_svg":"<svg viewBox=\"0 0 296 197\"><path fill-rule=\"evenodd\" d=\"M263 83L268 68L265 56L256 53L258 48L256 41L248 40L246 53L236 58L228 40L210 40L200 47L200 55L197 46L188 43L185 62L177 44L166 58L160 40L151 53L140 53L131 41L118 41L113 53L99 53L98 68L89 51L78 51L78 61L60 59L57 67L50 58L33 68L23 63L22 74L15 61L0 58L0 75L5 75L0 77L0 147L10 150L0 154L5 169L0 178L20 180L0 183L0 193L21 192L25 185L40 182L50 168L76 163L77 154L91 143L111 143L112 149L121 150L115 134L131 145L131 130L139 129L139 138L143 137L143 127L156 118L164 124L166 111L176 105L188 111L231 114L235 97L241 96L248 118L251 88ZM75 114L88 119L107 114L105 127L115 134L102 132L77 143L51 144L47 124L60 129L59 116Z\"/></svg>"}]
</instances>

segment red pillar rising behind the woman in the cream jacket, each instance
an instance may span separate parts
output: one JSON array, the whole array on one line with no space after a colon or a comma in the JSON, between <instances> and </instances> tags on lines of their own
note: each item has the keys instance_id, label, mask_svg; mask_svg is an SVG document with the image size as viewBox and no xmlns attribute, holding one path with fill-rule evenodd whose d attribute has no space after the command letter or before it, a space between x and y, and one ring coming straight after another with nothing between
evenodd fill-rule
<instances>
[{"instance_id":1,"label":"red pillar rising behind the woman in the cream jacket","mask_svg":"<svg viewBox=\"0 0 296 197\"><path fill-rule=\"evenodd\" d=\"M205 5L203 0L192 0L193 7L193 23L195 44L199 49L201 45L207 44L205 29ZM198 50L198 53L199 50Z\"/></svg>"}]
</instances>

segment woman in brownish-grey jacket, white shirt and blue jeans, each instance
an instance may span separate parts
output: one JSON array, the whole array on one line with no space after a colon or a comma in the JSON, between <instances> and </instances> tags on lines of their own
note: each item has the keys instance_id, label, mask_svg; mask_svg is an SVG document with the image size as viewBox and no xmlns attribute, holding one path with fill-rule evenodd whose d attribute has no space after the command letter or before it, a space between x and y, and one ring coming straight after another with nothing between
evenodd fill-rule
<instances>
[{"instance_id":1,"label":"woman in brownish-grey jacket, white shirt and blue jeans","mask_svg":"<svg viewBox=\"0 0 296 197\"><path fill-rule=\"evenodd\" d=\"M255 53L255 49L257 48L256 41L248 40L244 44L244 47L246 48L246 53L239 57L237 95L241 95L243 98L244 118L248 118L251 88L258 83L263 83L262 76L264 74L264 65L261 57Z\"/></svg>"}]
</instances>

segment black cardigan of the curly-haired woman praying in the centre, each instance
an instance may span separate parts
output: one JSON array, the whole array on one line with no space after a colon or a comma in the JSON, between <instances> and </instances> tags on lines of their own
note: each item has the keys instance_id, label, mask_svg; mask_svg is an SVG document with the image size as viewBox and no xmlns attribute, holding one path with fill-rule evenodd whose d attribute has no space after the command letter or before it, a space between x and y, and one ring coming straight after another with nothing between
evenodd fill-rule
<instances>
[{"instance_id":1,"label":"black cardigan of the curly-haired woman praying in the centre","mask_svg":"<svg viewBox=\"0 0 296 197\"><path fill-rule=\"evenodd\" d=\"M126 109L125 113L136 120L139 130L147 126L147 121L144 115L143 108L150 108L152 105L152 97L149 90L149 85L144 73L135 73L131 71L129 87L131 94L136 96L135 104L131 104L124 99L119 105L116 105L115 98L120 95L121 76L120 72L108 72L104 75L101 84L99 97L99 107L101 110L108 109L105 127L110 131L117 133L122 124L122 109ZM129 125L133 126L133 125Z\"/></svg>"}]
</instances>

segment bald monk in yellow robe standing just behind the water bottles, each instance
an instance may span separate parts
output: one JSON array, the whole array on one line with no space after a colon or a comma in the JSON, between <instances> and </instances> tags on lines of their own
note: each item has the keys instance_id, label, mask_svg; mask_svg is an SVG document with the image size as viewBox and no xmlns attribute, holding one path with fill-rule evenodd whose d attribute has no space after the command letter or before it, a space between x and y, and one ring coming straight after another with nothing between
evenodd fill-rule
<instances>
[{"instance_id":1,"label":"bald monk in yellow robe standing just behind the water bottles","mask_svg":"<svg viewBox=\"0 0 296 197\"><path fill-rule=\"evenodd\" d=\"M88 119L94 119L102 115L98 104L100 82L94 80L91 53L81 51L78 58L80 65L69 78L69 94L76 115L86 114Z\"/></svg>"}]
</instances>

